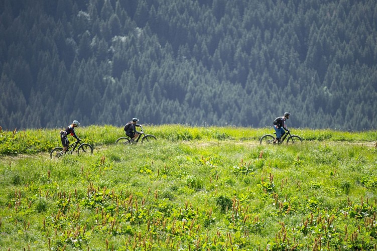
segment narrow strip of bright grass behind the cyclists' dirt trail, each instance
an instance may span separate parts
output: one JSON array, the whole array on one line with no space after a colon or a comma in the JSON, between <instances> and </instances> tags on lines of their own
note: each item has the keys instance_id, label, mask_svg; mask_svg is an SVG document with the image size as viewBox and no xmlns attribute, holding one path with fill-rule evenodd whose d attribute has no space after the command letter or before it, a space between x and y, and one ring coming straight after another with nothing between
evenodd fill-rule
<instances>
[{"instance_id":1,"label":"narrow strip of bright grass behind the cyclists' dirt trail","mask_svg":"<svg viewBox=\"0 0 377 251\"><path fill-rule=\"evenodd\" d=\"M49 152L60 146L61 129L30 129L17 131L0 131L0 155L34 154ZM242 127L188 127L182 124L165 124L162 126L145 125L146 134L153 134L159 139L168 141L258 141L265 134L273 134L271 128ZM344 141L344 142L375 142L376 131L342 132L335 130L292 129L306 141ZM110 125L88 126L76 129L76 134L84 142L94 147L113 144L117 138L124 137L122 127Z\"/></svg>"}]
</instances>

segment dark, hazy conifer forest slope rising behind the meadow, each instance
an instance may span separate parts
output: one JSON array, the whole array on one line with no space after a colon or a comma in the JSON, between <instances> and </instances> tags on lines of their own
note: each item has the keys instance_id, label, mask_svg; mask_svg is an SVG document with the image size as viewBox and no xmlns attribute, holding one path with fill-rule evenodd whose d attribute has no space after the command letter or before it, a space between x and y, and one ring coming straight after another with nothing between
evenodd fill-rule
<instances>
[{"instance_id":1,"label":"dark, hazy conifer forest slope rising behind the meadow","mask_svg":"<svg viewBox=\"0 0 377 251\"><path fill-rule=\"evenodd\" d=\"M0 126L370 130L375 0L0 1Z\"/></svg>"}]
</instances>

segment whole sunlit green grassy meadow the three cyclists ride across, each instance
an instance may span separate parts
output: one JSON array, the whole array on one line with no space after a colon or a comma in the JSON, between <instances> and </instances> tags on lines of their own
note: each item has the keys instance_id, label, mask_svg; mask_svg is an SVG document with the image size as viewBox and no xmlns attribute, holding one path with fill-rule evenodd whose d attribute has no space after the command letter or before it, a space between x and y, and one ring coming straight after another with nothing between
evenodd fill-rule
<instances>
[{"instance_id":1,"label":"whole sunlit green grassy meadow the three cyclists ride across","mask_svg":"<svg viewBox=\"0 0 377 251\"><path fill-rule=\"evenodd\" d=\"M375 131L89 126L50 160L59 131L0 133L1 250L377 250Z\"/></svg>"}]
</instances>

